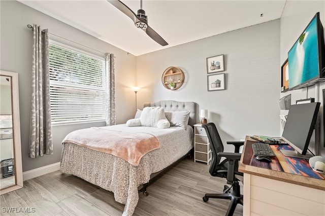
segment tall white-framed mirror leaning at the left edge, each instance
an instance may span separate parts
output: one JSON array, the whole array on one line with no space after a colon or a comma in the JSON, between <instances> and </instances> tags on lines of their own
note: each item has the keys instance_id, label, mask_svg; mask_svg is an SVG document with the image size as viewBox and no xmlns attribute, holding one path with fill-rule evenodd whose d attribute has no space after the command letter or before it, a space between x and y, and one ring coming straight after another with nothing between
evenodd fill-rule
<instances>
[{"instance_id":1,"label":"tall white-framed mirror leaning at the left edge","mask_svg":"<svg viewBox=\"0 0 325 216\"><path fill-rule=\"evenodd\" d=\"M23 187L18 74L0 70L0 195Z\"/></svg>"}]
</instances>

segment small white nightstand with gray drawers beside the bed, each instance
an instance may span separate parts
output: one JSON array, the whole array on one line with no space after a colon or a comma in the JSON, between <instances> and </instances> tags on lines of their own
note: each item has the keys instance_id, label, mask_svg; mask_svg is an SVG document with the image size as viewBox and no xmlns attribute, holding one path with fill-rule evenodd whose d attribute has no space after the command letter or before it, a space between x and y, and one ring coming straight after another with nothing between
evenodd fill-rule
<instances>
[{"instance_id":1,"label":"small white nightstand with gray drawers beside the bed","mask_svg":"<svg viewBox=\"0 0 325 216\"><path fill-rule=\"evenodd\" d=\"M211 149L207 133L202 124L194 125L194 162L201 161L209 165Z\"/></svg>"}]
</instances>

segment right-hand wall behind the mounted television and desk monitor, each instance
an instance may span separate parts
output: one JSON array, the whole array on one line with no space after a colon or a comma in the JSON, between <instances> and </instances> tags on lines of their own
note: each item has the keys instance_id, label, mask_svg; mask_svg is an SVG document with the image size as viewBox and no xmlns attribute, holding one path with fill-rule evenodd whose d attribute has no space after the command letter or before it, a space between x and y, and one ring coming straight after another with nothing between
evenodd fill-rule
<instances>
[{"instance_id":1,"label":"right-hand wall behind the mounted television and desk monitor","mask_svg":"<svg viewBox=\"0 0 325 216\"><path fill-rule=\"evenodd\" d=\"M287 1L280 22L280 59L281 65L288 57L288 51L297 41L299 35L303 32L313 16L319 12L320 20L325 27L325 1ZM311 87L292 90L280 93L280 98L291 94L291 104L295 104L296 100L313 97L315 101L321 102L319 111L320 140L319 145L315 146L315 133L310 142L312 152L325 156L324 143L324 127L323 127L323 100L322 89L325 89L325 83L320 83ZM281 111L282 115L286 115L287 111Z\"/></svg>"}]
</instances>

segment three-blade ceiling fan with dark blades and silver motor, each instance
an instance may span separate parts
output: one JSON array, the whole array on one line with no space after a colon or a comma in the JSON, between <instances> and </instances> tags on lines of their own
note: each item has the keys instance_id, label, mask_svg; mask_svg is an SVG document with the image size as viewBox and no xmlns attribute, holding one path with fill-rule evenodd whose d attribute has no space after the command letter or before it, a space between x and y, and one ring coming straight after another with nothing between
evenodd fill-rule
<instances>
[{"instance_id":1,"label":"three-blade ceiling fan with dark blades and silver motor","mask_svg":"<svg viewBox=\"0 0 325 216\"><path fill-rule=\"evenodd\" d=\"M113 6L115 6L118 10L123 12L126 16L131 18L134 21L136 27L144 30L149 35L149 37L152 38L155 42L157 42L161 46L168 45L168 43L148 25L148 17L146 16L146 12L142 10L142 0L140 0L140 9L138 10L138 14L135 14L131 9L129 9L119 0L107 1Z\"/></svg>"}]
</instances>

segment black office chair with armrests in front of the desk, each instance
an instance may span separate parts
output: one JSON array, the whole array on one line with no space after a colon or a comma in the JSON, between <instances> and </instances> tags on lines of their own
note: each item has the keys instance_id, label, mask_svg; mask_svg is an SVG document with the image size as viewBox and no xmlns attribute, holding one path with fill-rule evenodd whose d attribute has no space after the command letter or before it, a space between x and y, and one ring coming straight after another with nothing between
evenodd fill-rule
<instances>
[{"instance_id":1,"label":"black office chair with armrests in front of the desk","mask_svg":"<svg viewBox=\"0 0 325 216\"><path fill-rule=\"evenodd\" d=\"M225 185L223 194L206 194L203 197L203 201L207 202L209 198L230 199L231 202L226 215L233 215L237 204L243 205L243 195L240 194L240 186L238 183L239 179L235 175L243 176L243 173L238 171L238 164L241 157L239 148L244 145L244 142L228 141L227 144L235 146L235 153L223 152L222 141L215 124L208 123L202 125L202 127L207 133L212 151L212 162L209 168L210 174L212 176L226 178L227 184L232 185L231 187ZM225 159L220 162L221 157L225 157Z\"/></svg>"}]
</instances>

